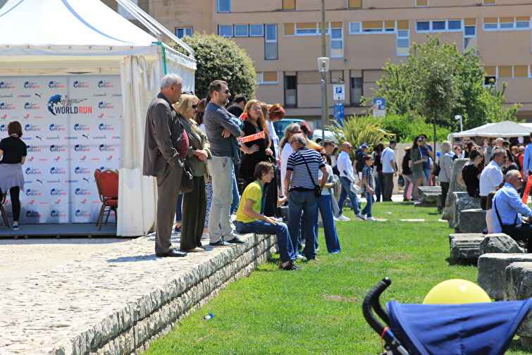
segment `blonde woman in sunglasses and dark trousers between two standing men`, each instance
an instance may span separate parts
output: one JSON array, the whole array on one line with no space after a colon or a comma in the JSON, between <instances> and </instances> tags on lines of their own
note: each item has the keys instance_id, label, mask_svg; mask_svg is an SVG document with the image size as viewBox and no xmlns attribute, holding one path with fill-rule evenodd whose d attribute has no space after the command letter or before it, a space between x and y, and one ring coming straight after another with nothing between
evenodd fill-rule
<instances>
[{"instance_id":1,"label":"blonde woman in sunglasses and dark trousers between two standing men","mask_svg":"<svg viewBox=\"0 0 532 355\"><path fill-rule=\"evenodd\" d=\"M187 132L189 147L187 162L194 175L194 189L183 194L183 225L181 228L181 249L187 251L203 251L202 234L204 230L207 199L205 193L205 175L207 160L211 158L209 141L194 121L199 99L194 95L183 94L175 111L182 116L183 128Z\"/></svg>"}]
</instances>

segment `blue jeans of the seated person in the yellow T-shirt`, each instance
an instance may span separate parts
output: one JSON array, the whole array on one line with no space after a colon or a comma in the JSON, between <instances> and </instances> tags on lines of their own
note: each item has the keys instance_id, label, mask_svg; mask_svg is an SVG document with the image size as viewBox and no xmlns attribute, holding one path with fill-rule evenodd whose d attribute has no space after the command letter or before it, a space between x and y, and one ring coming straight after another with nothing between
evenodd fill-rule
<instances>
[{"instance_id":1,"label":"blue jeans of the seated person in the yellow T-shirt","mask_svg":"<svg viewBox=\"0 0 532 355\"><path fill-rule=\"evenodd\" d=\"M264 233L277 235L277 245L279 247L280 261L283 263L295 260L294 248L292 248L292 240L290 233L285 223L273 225L264 220L255 220L253 222L240 222L235 220L235 229L239 233Z\"/></svg>"}]
</instances>

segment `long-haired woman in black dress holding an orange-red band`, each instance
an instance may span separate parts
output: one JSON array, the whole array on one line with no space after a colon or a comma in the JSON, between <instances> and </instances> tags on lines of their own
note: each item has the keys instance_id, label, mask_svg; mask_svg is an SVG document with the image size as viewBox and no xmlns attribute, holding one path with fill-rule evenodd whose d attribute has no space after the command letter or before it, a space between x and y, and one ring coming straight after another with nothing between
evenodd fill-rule
<instances>
[{"instance_id":1,"label":"long-haired woman in black dress holding an orange-red band","mask_svg":"<svg viewBox=\"0 0 532 355\"><path fill-rule=\"evenodd\" d=\"M242 160L240 161L240 178L245 180L245 186L247 186L256 180L253 177L256 164L260 161L270 161L273 156L273 151L269 148L271 144L270 131L266 124L266 118L262 113L260 101L247 101L244 113L246 116L244 125L242 125L242 137L264 131L264 138L254 139L244 143L247 147L256 145L259 148L251 154L247 153L242 156Z\"/></svg>"}]
</instances>

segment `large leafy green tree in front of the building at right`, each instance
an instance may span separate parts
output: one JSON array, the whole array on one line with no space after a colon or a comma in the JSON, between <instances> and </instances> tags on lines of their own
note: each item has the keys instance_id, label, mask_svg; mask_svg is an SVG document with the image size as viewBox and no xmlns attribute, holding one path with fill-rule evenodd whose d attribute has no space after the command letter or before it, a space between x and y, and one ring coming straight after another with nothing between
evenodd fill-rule
<instances>
[{"instance_id":1,"label":"large leafy green tree in front of the building at right","mask_svg":"<svg viewBox=\"0 0 532 355\"><path fill-rule=\"evenodd\" d=\"M386 99L386 112L424 116L450 130L458 130L454 115L462 115L464 129L489 122L516 120L520 104L505 108L504 92L484 86L483 64L476 49L461 54L456 44L440 44L428 37L423 44L412 44L406 62L385 64L373 97ZM373 98L372 97L372 98ZM369 104L372 98L364 98Z\"/></svg>"}]
</instances>

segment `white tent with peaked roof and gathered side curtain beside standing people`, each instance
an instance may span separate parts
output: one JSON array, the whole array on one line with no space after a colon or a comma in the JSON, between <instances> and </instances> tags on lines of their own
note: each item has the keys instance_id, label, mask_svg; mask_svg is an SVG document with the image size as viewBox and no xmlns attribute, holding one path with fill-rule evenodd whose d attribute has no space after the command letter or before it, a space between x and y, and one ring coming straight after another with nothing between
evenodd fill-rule
<instances>
[{"instance_id":1,"label":"white tent with peaked roof and gathered side curtain beside standing people","mask_svg":"<svg viewBox=\"0 0 532 355\"><path fill-rule=\"evenodd\" d=\"M190 47L128 0L117 0L153 35L99 0L8 0L0 9L0 75L120 75L123 112L117 235L143 235L154 225L156 185L142 176L144 119L164 73L194 89ZM162 35L189 55L162 43Z\"/></svg>"}]
</instances>

